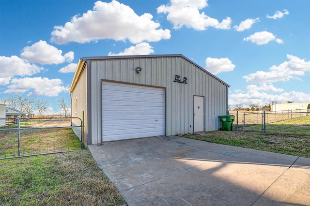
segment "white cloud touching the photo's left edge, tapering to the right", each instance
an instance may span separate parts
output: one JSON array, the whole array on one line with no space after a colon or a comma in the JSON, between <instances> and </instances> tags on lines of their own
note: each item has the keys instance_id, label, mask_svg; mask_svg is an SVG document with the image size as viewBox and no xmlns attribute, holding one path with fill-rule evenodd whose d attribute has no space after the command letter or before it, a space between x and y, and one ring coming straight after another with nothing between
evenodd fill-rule
<instances>
[{"instance_id":1,"label":"white cloud touching the photo's left edge, tapering to the right","mask_svg":"<svg viewBox=\"0 0 310 206\"><path fill-rule=\"evenodd\" d=\"M0 56L0 65L0 85L9 84L10 80L16 75L31 76L44 70L43 67L26 62L17 56Z\"/></svg>"}]
</instances>

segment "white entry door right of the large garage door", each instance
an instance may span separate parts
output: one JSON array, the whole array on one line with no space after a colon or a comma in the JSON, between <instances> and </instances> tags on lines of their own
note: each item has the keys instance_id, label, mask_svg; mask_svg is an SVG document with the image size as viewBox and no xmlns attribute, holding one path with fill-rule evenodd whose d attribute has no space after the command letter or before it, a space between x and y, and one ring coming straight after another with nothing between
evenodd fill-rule
<instances>
[{"instance_id":1,"label":"white entry door right of the large garage door","mask_svg":"<svg viewBox=\"0 0 310 206\"><path fill-rule=\"evenodd\" d=\"M194 96L194 132L204 131L204 97Z\"/></svg>"}]
</instances>

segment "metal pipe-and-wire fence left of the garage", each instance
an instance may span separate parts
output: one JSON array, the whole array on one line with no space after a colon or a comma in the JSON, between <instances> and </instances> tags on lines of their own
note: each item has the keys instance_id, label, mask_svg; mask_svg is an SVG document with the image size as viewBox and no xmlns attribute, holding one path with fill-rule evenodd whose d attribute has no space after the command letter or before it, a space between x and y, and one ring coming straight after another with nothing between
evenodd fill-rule
<instances>
[{"instance_id":1,"label":"metal pipe-and-wire fence left of the garage","mask_svg":"<svg viewBox=\"0 0 310 206\"><path fill-rule=\"evenodd\" d=\"M79 125L73 125L73 119ZM83 148L79 118L13 118L5 124L1 120L0 160Z\"/></svg>"}]
</instances>

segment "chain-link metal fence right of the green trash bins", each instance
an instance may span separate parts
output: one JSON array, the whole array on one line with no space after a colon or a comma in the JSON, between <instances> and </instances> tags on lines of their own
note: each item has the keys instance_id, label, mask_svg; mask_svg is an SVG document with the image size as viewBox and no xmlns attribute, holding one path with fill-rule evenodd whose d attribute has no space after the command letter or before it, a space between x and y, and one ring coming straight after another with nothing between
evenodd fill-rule
<instances>
[{"instance_id":1,"label":"chain-link metal fence right of the green trash bins","mask_svg":"<svg viewBox=\"0 0 310 206\"><path fill-rule=\"evenodd\" d=\"M310 110L259 111L239 112L230 111L235 116L233 130L245 132L266 132L266 125L298 124L310 125Z\"/></svg>"}]
</instances>

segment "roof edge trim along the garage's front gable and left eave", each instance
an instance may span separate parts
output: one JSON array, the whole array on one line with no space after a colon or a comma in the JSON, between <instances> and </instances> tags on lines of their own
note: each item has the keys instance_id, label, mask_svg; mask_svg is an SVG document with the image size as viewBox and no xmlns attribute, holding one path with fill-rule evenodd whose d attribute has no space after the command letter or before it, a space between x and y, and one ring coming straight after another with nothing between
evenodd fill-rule
<instances>
[{"instance_id":1,"label":"roof edge trim along the garage's front gable and left eave","mask_svg":"<svg viewBox=\"0 0 310 206\"><path fill-rule=\"evenodd\" d=\"M182 54L165 54L165 55L129 55L129 56L99 56L99 57L82 57L78 60L78 65L76 68L76 72L74 74L69 92L73 92L75 85L78 82L79 76L83 71L84 65L87 61L93 61L93 60L107 60L107 59L139 59L139 58L165 58L165 57L180 57L185 59L186 61L194 64L196 67L198 67L200 70L202 70L203 72L209 74L210 76L212 76L213 78L217 79L219 82L221 82L222 84L226 85L227 87L230 87L229 84L227 84L226 82L224 82L223 80L219 79L218 77L216 77L214 74L211 74L210 72L206 71L204 68L202 68L201 66L199 66L198 64L196 64L195 62L193 62L192 60L186 58L185 56L183 56Z\"/></svg>"}]
</instances>

